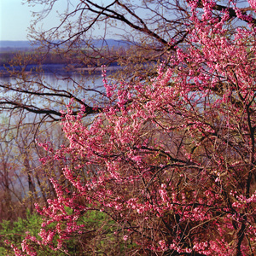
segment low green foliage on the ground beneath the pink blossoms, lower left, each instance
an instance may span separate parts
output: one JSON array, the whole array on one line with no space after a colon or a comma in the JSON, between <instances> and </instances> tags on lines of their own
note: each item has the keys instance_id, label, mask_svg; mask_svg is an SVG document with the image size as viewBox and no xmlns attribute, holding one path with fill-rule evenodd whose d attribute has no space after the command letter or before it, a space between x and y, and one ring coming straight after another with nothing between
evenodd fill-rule
<instances>
[{"instance_id":1,"label":"low green foliage on the ground beneath the pink blossoms, lower left","mask_svg":"<svg viewBox=\"0 0 256 256\"><path fill-rule=\"evenodd\" d=\"M72 214L72 210L70 214ZM6 240L21 250L21 242L25 238L26 232L41 241L38 233L42 222L43 218L38 213L31 213L29 210L26 212L26 218L18 218L13 223L3 220L0 223L0 255L14 255L13 249L5 242ZM71 255L92 255L93 252L102 253L104 251L119 251L122 254L125 250L123 239L114 236L114 231L117 230L115 222L105 212L88 211L82 218L79 218L78 223L84 224L84 236L73 236L67 240L67 251ZM54 229L55 224L51 224L49 228ZM90 241L89 247L88 241ZM56 245L57 241L55 240L55 247ZM37 253L39 256L67 255L60 251L54 252L49 247L38 247Z\"/></svg>"}]
</instances>

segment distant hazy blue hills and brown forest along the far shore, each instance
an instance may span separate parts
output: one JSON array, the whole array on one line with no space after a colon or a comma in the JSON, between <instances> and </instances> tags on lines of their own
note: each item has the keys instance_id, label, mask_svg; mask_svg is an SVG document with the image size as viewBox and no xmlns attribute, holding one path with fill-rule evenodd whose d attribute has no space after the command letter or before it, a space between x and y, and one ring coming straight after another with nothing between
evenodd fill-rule
<instances>
[{"instance_id":1,"label":"distant hazy blue hills and brown forest along the far shore","mask_svg":"<svg viewBox=\"0 0 256 256\"><path fill-rule=\"evenodd\" d=\"M113 61L113 58L109 60L109 50L116 51L116 55L125 54L125 49L129 47L128 42L117 41L114 39L108 39L105 41L95 40L90 43L93 49L106 48L106 58L102 58L102 55L97 55L96 50L90 49L84 45L81 48L74 51L70 51L64 54L60 50L49 50L42 48L37 49L37 44L31 44L29 41L0 41L0 66L17 66L17 59L20 63L26 63L26 65L38 65L41 64L73 64L76 67L99 67L103 64L112 63L112 66L118 65ZM94 61L87 61L93 57Z\"/></svg>"}]
</instances>

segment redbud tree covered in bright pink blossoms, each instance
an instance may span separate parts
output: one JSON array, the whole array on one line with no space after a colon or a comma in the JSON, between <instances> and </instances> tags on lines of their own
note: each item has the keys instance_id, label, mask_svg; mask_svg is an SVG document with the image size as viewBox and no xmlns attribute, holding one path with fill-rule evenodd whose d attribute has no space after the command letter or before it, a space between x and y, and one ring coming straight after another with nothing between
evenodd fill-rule
<instances>
[{"instance_id":1,"label":"redbud tree covered in bright pink blossoms","mask_svg":"<svg viewBox=\"0 0 256 256\"><path fill-rule=\"evenodd\" d=\"M72 237L84 255L256 253L256 28L234 4L245 25L230 34L229 11L213 19L215 3L202 0L199 13L197 2L188 3L188 43L156 79L110 84L103 72L109 102L90 125L83 107L74 116L67 106L69 145L44 145L65 161L65 180L53 178L56 198L36 206L41 239L27 234L16 255L72 255ZM92 212L104 216L93 229Z\"/></svg>"}]
</instances>

